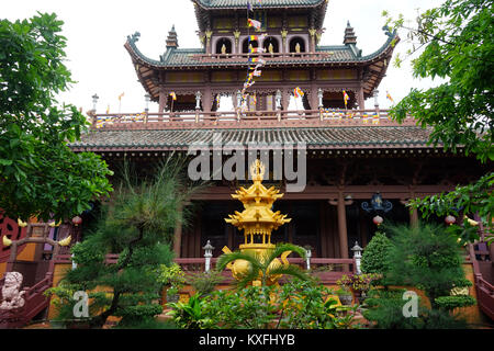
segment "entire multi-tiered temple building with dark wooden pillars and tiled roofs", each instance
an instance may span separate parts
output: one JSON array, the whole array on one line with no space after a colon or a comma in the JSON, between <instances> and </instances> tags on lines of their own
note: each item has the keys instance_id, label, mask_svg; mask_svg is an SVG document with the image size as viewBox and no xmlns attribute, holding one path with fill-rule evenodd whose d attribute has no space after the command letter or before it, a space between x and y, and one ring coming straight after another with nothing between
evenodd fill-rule
<instances>
[{"instance_id":1,"label":"entire multi-tiered temple building with dark wooden pillars and tiled roofs","mask_svg":"<svg viewBox=\"0 0 494 351\"><path fill-rule=\"evenodd\" d=\"M351 257L348 242L369 242L377 214L384 220L416 223L419 214L405 207L411 199L452 190L487 171L489 166L464 155L461 146L451 154L429 145L430 129L418 126L413 116L398 124L380 109L378 89L400 42L396 33L384 27L382 46L367 54L358 47L350 23L341 27L339 45L321 43L326 0L250 1L251 11L246 0L191 1L201 47L180 47L175 27L159 57L138 49L138 33L124 43L147 99L157 102L158 110L143 113L136 106L105 114L97 111L96 100L89 113L91 132L70 145L75 151L97 152L115 171L124 159L132 160L146 172L164 156L188 154L191 145L207 152L213 165L216 158L225 163L236 152L224 149L227 145L293 144L287 155L294 161L306 159L303 191L288 191L291 180L277 179L269 170L277 150L260 148L248 155L268 157L262 160L265 184L284 193L270 211L292 218L270 240L311 247L314 258L334 259ZM295 95L302 101L291 111ZM364 101L371 98L374 109L366 110ZM232 111L218 106L225 99ZM243 169L250 163L246 160ZM225 246L245 245L239 228L223 220L245 210L231 197L245 183L222 177L213 184L192 199L203 208L193 225L176 228L179 258L202 257L207 240L216 248L213 257ZM378 194L391 204L390 211L363 206Z\"/></svg>"}]
</instances>

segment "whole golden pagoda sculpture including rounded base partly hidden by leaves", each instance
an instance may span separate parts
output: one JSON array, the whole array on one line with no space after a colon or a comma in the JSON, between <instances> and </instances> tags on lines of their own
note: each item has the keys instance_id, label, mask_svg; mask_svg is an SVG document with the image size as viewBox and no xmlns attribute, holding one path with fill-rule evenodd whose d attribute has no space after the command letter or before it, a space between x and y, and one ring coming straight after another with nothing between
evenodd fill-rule
<instances>
[{"instance_id":1,"label":"whole golden pagoda sculpture including rounded base partly hidden by leaves","mask_svg":"<svg viewBox=\"0 0 494 351\"><path fill-rule=\"evenodd\" d=\"M266 167L259 160L256 160L250 166L250 174L252 177L254 184L249 189L240 186L236 191L236 194L232 194L233 199L239 200L244 204L244 211L239 213L235 212L233 215L228 215L229 218L225 218L226 223L231 223L239 230L244 230L245 244L239 246L243 253L252 253L262 260L269 252L276 248L271 244L271 233L277 230L280 226L289 223L291 218L287 218L287 215L282 215L279 211L273 212L273 203L283 196L279 190L274 186L267 189L262 185ZM256 240L256 238L259 238ZM256 242L258 241L258 242ZM229 253L231 250L225 246L223 252ZM291 251L285 251L281 256L281 262L276 259L269 264L269 269L279 268L281 264L289 265L287 257ZM232 271L233 276L236 280L240 280L248 270L250 263L245 260L235 260L227 264L227 269ZM274 284L281 275L272 275L268 278L268 284ZM260 280L254 281L254 285L260 285Z\"/></svg>"}]
</instances>

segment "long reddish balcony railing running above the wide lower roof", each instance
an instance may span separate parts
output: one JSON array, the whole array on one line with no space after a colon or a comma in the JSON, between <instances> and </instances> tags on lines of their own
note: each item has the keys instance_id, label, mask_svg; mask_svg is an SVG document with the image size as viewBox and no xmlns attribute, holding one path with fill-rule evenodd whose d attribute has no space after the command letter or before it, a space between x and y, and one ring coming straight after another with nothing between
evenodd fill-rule
<instances>
[{"instance_id":1,"label":"long reddish balcony railing running above the wide lower roof","mask_svg":"<svg viewBox=\"0 0 494 351\"><path fill-rule=\"evenodd\" d=\"M268 126L327 125L400 125L391 120L388 110L300 110L255 112L165 112L165 113L89 113L92 128L99 129L173 129ZM412 117L404 125L415 125ZM402 124L402 125L403 125Z\"/></svg>"}]
</instances>

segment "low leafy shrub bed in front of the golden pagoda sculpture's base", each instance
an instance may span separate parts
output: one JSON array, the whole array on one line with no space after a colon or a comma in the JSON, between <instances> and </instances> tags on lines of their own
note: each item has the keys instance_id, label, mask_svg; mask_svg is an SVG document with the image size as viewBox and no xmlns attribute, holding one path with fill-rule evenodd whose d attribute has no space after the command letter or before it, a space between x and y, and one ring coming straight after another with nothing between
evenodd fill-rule
<instances>
[{"instance_id":1,"label":"low leafy shrub bed in front of the golden pagoda sculpture's base","mask_svg":"<svg viewBox=\"0 0 494 351\"><path fill-rule=\"evenodd\" d=\"M204 315L222 329L346 329L356 307L336 306L333 292L316 281L293 280L282 286L215 291L204 298Z\"/></svg>"}]
</instances>

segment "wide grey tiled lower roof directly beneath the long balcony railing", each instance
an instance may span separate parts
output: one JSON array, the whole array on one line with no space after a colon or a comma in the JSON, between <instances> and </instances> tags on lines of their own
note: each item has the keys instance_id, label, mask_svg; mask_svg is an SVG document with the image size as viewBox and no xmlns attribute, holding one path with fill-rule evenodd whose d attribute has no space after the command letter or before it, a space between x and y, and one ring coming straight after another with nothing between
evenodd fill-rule
<instances>
[{"instance_id":1,"label":"wide grey tiled lower roof directly beneath the long balcony railing","mask_svg":"<svg viewBox=\"0 0 494 351\"><path fill-rule=\"evenodd\" d=\"M262 129L92 131L71 145L75 149L180 149L211 145L221 133L223 144L306 143L308 148L424 147L429 131L418 126L287 127Z\"/></svg>"}]
</instances>

